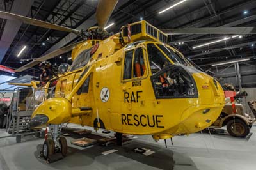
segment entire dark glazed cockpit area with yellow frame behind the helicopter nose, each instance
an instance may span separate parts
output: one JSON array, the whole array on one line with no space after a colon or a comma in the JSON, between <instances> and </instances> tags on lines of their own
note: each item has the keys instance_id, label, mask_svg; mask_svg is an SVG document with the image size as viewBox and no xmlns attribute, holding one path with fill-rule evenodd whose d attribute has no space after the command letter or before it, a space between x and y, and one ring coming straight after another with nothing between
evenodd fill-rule
<instances>
[{"instance_id":1,"label":"entire dark glazed cockpit area with yellow frame behind the helicopter nose","mask_svg":"<svg viewBox=\"0 0 256 170\"><path fill-rule=\"evenodd\" d=\"M196 72L196 69L183 56L155 43L147 44L147 52L156 98L197 97L196 84L191 76L191 70Z\"/></svg>"}]
</instances>

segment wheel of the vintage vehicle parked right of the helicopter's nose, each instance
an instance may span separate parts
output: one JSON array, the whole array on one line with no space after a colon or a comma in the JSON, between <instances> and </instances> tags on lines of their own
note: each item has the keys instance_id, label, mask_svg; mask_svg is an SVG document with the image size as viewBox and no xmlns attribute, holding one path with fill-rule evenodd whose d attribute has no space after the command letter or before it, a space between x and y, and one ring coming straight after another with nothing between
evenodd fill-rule
<instances>
[{"instance_id":1,"label":"wheel of the vintage vehicle parked right of the helicopter's nose","mask_svg":"<svg viewBox=\"0 0 256 170\"><path fill-rule=\"evenodd\" d=\"M234 137L246 137L250 133L250 128L243 120L230 120L227 123L228 133Z\"/></svg>"}]
</instances>

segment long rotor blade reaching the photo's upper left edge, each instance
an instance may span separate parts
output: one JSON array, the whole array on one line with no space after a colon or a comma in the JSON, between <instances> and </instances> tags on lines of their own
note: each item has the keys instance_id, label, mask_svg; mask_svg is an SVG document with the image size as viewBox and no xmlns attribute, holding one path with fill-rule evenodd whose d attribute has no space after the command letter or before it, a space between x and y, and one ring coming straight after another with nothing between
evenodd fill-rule
<instances>
[{"instance_id":1,"label":"long rotor blade reaching the photo's upper left edge","mask_svg":"<svg viewBox=\"0 0 256 170\"><path fill-rule=\"evenodd\" d=\"M75 33L76 35L80 34L80 31L77 30L77 29L72 29L72 28L69 28L69 27L63 27L63 26L59 26L59 25L56 25L56 24L51 24L49 22L45 22L45 21L42 21L42 20L31 19L29 17L24 17L22 15L17 15L17 14L14 14L14 13L8 13L8 12L0 11L0 17L2 19L8 19L8 20L15 20L15 21L19 20L19 21L25 22L25 23L33 25L33 26L44 27L44 28L47 28L47 29L55 29L55 30L58 30L58 31L65 31L65 32L68 32L68 33Z\"/></svg>"}]
</instances>

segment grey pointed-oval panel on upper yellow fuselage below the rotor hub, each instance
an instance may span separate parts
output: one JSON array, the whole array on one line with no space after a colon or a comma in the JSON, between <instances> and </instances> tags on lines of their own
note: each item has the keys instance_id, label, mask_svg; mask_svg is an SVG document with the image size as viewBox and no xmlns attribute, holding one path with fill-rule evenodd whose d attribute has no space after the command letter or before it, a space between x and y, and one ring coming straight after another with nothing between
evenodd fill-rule
<instances>
[{"instance_id":1,"label":"grey pointed-oval panel on upper yellow fuselage below the rotor hub","mask_svg":"<svg viewBox=\"0 0 256 170\"><path fill-rule=\"evenodd\" d=\"M85 66L91 57L91 52L92 48L84 50L83 52L81 52L76 59L73 61L72 65L70 66L70 71L74 71L77 68L81 68L82 66Z\"/></svg>"}]
</instances>

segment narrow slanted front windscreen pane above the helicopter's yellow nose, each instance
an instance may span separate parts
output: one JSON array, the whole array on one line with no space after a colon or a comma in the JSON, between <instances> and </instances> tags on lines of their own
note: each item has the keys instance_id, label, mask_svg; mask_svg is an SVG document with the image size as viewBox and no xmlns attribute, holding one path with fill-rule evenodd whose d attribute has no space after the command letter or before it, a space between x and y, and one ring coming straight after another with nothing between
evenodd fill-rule
<instances>
[{"instance_id":1,"label":"narrow slanted front windscreen pane above the helicopter's yellow nose","mask_svg":"<svg viewBox=\"0 0 256 170\"><path fill-rule=\"evenodd\" d=\"M166 47L165 45L157 44L157 46L163 50L163 52L168 56L168 58L172 59L173 63L178 63L182 65L188 65L188 61L186 61L178 52Z\"/></svg>"}]
</instances>

